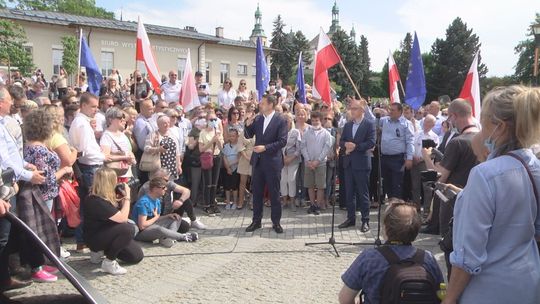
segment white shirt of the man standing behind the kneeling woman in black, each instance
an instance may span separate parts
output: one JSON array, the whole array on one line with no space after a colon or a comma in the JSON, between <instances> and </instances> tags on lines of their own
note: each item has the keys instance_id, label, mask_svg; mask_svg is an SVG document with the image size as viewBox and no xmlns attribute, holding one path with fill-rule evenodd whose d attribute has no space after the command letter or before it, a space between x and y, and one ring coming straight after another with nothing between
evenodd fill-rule
<instances>
[{"instance_id":1,"label":"white shirt of the man standing behind the kneeling woman in black","mask_svg":"<svg viewBox=\"0 0 540 304\"><path fill-rule=\"evenodd\" d=\"M90 118L78 113L69 128L69 141L82 156L79 162L84 165L102 165L105 155L96 141L94 130L90 125Z\"/></svg>"}]
</instances>

